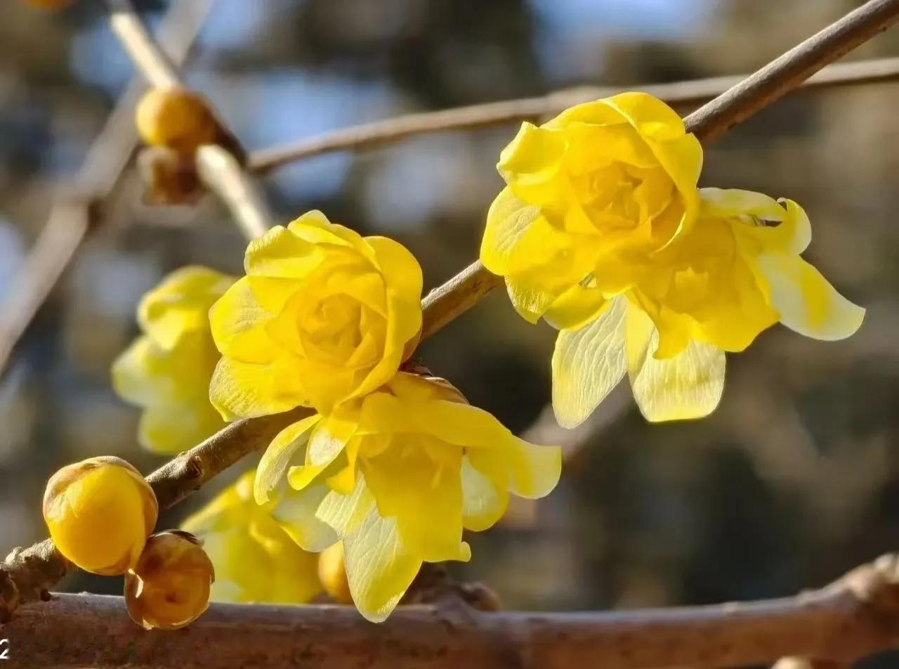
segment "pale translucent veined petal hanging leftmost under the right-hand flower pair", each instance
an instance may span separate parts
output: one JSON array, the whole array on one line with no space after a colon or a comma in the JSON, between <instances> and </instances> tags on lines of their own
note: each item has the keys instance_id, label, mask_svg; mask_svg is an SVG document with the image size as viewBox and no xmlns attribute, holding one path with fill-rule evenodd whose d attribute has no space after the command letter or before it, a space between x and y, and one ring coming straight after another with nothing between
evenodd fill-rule
<instances>
[{"instance_id":1,"label":"pale translucent veined petal hanging leftmost under the right-hand flower pair","mask_svg":"<svg viewBox=\"0 0 899 669\"><path fill-rule=\"evenodd\" d=\"M582 424L626 370L624 322L627 299L610 300L592 323L562 330L553 352L553 410L566 428Z\"/></svg>"}]
</instances>

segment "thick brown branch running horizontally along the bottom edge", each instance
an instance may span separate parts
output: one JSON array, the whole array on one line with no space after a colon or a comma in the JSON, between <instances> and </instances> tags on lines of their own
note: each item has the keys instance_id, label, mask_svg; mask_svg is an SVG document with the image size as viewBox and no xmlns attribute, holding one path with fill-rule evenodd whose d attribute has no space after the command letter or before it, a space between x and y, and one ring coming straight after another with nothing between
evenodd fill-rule
<instances>
[{"instance_id":1,"label":"thick brown branch running horizontally along the bottom edge","mask_svg":"<svg viewBox=\"0 0 899 669\"><path fill-rule=\"evenodd\" d=\"M826 666L899 645L899 557L784 599L583 613L413 606L380 625L348 607L213 604L188 629L147 632L120 597L64 594L24 608L3 636L22 666L658 669L791 654Z\"/></svg>"}]
</instances>

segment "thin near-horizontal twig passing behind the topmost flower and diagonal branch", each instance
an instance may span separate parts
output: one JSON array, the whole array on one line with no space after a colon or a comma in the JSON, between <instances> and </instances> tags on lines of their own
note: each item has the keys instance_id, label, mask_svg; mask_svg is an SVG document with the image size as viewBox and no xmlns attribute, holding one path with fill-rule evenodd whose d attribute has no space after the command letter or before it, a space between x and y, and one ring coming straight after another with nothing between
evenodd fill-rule
<instances>
[{"instance_id":1,"label":"thin near-horizontal twig passing behind the topmost flower and diagonal branch","mask_svg":"<svg viewBox=\"0 0 899 669\"><path fill-rule=\"evenodd\" d=\"M748 75L712 76L668 84L630 86L579 86L542 97L474 104L439 112L421 112L378 120L352 128L326 132L285 146L254 151L249 169L266 172L282 165L334 151L358 151L401 139L448 130L488 128L521 120L555 116L568 107L621 91L644 91L676 107L705 103L743 81ZM899 79L899 58L874 58L824 67L797 86L797 90L821 90L843 85L873 84Z\"/></svg>"}]
</instances>

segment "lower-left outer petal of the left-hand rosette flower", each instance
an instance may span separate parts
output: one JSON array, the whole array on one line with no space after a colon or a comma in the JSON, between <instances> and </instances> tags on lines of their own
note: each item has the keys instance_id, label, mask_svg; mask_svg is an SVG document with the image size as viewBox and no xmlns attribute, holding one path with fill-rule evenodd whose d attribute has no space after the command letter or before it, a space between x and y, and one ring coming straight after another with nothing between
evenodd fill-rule
<instances>
[{"instance_id":1,"label":"lower-left outer petal of the left-hand rosette flower","mask_svg":"<svg viewBox=\"0 0 899 669\"><path fill-rule=\"evenodd\" d=\"M227 421L307 403L291 362L283 358L263 365L222 358L209 383L209 400Z\"/></svg>"}]
</instances>

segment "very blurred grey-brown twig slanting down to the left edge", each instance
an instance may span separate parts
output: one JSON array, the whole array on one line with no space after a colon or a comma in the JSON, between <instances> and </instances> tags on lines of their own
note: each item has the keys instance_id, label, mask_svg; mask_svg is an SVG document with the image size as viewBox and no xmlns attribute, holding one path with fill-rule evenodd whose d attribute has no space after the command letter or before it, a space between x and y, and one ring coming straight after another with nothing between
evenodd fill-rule
<instances>
[{"instance_id":1,"label":"very blurred grey-brown twig slanting down to the left edge","mask_svg":"<svg viewBox=\"0 0 899 669\"><path fill-rule=\"evenodd\" d=\"M211 0L182 0L165 17L159 40L173 62L182 63L187 57L210 3ZM99 205L109 197L129 164L138 146L134 109L145 88L142 79L136 77L122 94L94 139L73 186L50 208L47 225L10 286L0 307L0 374L95 224Z\"/></svg>"}]
</instances>

